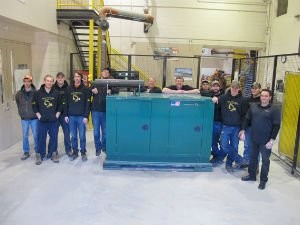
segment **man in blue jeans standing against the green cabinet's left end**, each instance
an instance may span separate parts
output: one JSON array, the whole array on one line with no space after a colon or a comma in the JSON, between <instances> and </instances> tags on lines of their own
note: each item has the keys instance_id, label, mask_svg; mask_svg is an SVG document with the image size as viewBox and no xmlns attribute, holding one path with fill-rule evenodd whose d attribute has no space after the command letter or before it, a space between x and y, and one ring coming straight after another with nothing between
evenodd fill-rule
<instances>
[{"instance_id":1,"label":"man in blue jeans standing against the green cabinet's left end","mask_svg":"<svg viewBox=\"0 0 300 225\"><path fill-rule=\"evenodd\" d=\"M101 71L101 79L112 79L109 68ZM92 121L94 127L94 144L96 156L106 152L106 96L118 92L116 88L91 87L92 90ZM101 137L100 137L101 130Z\"/></svg>"}]
</instances>

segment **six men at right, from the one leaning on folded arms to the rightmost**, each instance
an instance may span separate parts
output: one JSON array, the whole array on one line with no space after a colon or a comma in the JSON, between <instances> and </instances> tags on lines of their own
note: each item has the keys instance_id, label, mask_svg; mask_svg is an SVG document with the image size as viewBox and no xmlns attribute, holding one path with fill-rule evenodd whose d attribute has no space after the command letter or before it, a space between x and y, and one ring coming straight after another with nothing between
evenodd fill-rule
<instances>
[{"instance_id":1,"label":"six men at right, from the one leaning on folded arms to the rightmost","mask_svg":"<svg viewBox=\"0 0 300 225\"><path fill-rule=\"evenodd\" d=\"M224 160L228 172L235 168L247 168L249 175L243 181L255 181L259 171L259 155L262 165L259 189L265 189L268 181L270 155L280 128L280 111L271 104L272 92L261 89L258 82L251 85L251 97L242 95L240 83L233 80L228 89L219 80L202 80L200 90L184 85L183 77L176 77L175 84L163 93L200 93L211 97L214 108L210 162L221 165ZM224 83L224 82L223 82ZM239 141L244 141L244 152L238 153Z\"/></svg>"}]
</instances>

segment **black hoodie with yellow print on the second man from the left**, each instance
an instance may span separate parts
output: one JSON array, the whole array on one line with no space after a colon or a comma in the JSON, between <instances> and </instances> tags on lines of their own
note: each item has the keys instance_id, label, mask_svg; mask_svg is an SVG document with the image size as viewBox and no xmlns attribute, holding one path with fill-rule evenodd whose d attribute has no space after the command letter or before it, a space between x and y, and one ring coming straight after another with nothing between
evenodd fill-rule
<instances>
[{"instance_id":1,"label":"black hoodie with yellow print on the second man from the left","mask_svg":"<svg viewBox=\"0 0 300 225\"><path fill-rule=\"evenodd\" d=\"M45 84L34 93L32 100L32 108L34 113L40 113L42 122L54 122L57 120L56 113L62 111L62 102L59 92L54 87L47 93Z\"/></svg>"}]
</instances>

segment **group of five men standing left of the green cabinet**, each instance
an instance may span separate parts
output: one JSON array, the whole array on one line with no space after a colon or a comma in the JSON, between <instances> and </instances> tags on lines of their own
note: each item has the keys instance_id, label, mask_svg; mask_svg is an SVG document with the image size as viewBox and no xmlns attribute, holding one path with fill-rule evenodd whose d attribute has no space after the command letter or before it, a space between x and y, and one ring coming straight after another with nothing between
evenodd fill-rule
<instances>
[{"instance_id":1,"label":"group of five men standing left of the green cabinet","mask_svg":"<svg viewBox=\"0 0 300 225\"><path fill-rule=\"evenodd\" d=\"M102 70L101 78L110 78L109 68ZM26 74L23 77L23 86L16 94L23 133L24 153L21 160L30 157L28 134L31 129L36 153L35 164L40 165L45 159L58 163L58 131L61 126L65 153L70 160L75 160L80 151L82 161L87 161L86 125L90 112L96 155L105 152L106 95L114 92L114 89L85 86L83 75L79 72L74 73L71 85L65 80L62 72L57 73L56 80L51 75L46 75L44 83L37 90L32 76ZM48 145L47 135L49 135Z\"/></svg>"}]
</instances>

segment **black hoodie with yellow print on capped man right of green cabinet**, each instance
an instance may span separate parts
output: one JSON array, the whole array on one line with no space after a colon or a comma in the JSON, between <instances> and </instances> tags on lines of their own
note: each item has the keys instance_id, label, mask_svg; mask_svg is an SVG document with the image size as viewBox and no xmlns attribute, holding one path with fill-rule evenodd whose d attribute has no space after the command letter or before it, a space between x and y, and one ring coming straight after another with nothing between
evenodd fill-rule
<instances>
[{"instance_id":1,"label":"black hoodie with yellow print on capped man right of green cabinet","mask_svg":"<svg viewBox=\"0 0 300 225\"><path fill-rule=\"evenodd\" d=\"M232 96L230 90L220 96L218 106L221 109L222 124L227 126L241 126L249 108L247 98L240 91Z\"/></svg>"}]
</instances>

